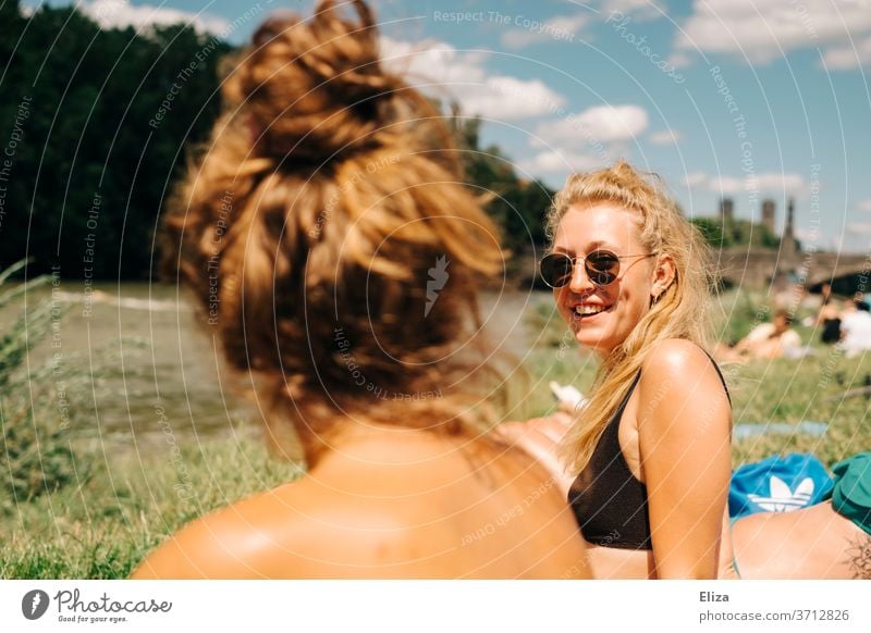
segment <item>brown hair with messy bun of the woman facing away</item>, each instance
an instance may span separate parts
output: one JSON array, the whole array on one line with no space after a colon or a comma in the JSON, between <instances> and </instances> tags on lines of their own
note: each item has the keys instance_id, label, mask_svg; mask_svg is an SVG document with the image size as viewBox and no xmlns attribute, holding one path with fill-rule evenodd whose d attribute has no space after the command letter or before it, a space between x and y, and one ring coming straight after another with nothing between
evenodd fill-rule
<instances>
[{"instance_id":1,"label":"brown hair with messy bun of the woman facing away","mask_svg":"<svg viewBox=\"0 0 871 633\"><path fill-rule=\"evenodd\" d=\"M342 419L475 425L498 229L441 113L382 66L369 7L269 18L222 96L170 203L163 270L255 376L269 436L281 446L290 421L310 466Z\"/></svg>"}]
</instances>

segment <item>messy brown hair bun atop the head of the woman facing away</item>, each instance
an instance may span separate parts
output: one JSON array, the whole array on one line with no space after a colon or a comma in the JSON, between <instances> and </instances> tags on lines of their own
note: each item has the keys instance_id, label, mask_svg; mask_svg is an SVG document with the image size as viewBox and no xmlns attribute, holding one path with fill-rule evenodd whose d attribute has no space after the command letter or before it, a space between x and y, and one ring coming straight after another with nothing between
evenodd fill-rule
<instances>
[{"instance_id":1,"label":"messy brown hair bun atop the head of the woman facing away","mask_svg":"<svg viewBox=\"0 0 871 633\"><path fill-rule=\"evenodd\" d=\"M265 153L321 162L378 145L403 84L381 70L368 7L353 7L355 21L328 0L310 20L274 15L254 34L226 94L243 104Z\"/></svg>"}]
</instances>

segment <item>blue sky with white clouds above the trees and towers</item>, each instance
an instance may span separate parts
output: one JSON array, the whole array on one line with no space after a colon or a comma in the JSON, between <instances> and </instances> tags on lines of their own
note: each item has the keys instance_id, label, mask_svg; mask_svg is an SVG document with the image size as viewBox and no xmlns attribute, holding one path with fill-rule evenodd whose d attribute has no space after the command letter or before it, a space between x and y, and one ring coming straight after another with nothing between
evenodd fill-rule
<instances>
[{"instance_id":1,"label":"blue sky with white clouds above the trees and towers","mask_svg":"<svg viewBox=\"0 0 871 633\"><path fill-rule=\"evenodd\" d=\"M75 3L106 27L184 21L233 44L273 11L314 5ZM871 0L371 4L385 64L481 116L483 144L524 177L559 188L625 159L690 216L715 215L726 196L759 221L771 198L780 229L792 197L806 248L871 253Z\"/></svg>"}]
</instances>

